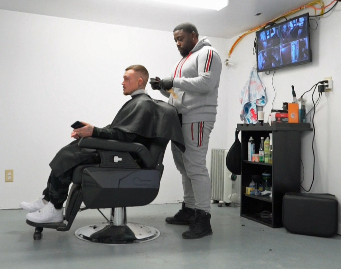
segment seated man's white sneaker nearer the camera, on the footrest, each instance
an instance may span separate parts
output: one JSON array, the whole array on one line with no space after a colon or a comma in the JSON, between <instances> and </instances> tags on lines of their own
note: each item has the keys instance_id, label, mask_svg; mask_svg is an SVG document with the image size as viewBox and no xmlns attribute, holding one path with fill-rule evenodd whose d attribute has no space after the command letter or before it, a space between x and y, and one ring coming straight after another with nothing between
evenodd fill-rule
<instances>
[{"instance_id":1,"label":"seated man's white sneaker nearer the camera, on the footrest","mask_svg":"<svg viewBox=\"0 0 341 269\"><path fill-rule=\"evenodd\" d=\"M56 209L53 203L48 202L39 211L28 213L26 218L35 223L62 222L64 220L63 208Z\"/></svg>"}]
</instances>

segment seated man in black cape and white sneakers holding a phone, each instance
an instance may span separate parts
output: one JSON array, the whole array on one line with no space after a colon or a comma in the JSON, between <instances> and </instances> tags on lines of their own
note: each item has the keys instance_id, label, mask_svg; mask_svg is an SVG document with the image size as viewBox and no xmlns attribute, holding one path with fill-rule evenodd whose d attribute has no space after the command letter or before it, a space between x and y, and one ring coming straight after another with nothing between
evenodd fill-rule
<instances>
[{"instance_id":1,"label":"seated man in black cape and white sneakers holding a phone","mask_svg":"<svg viewBox=\"0 0 341 269\"><path fill-rule=\"evenodd\" d=\"M96 150L81 148L78 139L97 137L125 142L137 142L148 147L153 138L166 138L184 151L181 125L176 108L163 101L153 100L146 94L149 74L141 65L125 69L123 94L130 95L118 111L112 124L97 128L90 124L74 129L71 137L76 140L63 147L50 162L51 173L43 196L33 202L21 202L20 207L29 211L27 220L35 223L63 221L63 203L68 196L74 167L100 162Z\"/></svg>"}]
</instances>

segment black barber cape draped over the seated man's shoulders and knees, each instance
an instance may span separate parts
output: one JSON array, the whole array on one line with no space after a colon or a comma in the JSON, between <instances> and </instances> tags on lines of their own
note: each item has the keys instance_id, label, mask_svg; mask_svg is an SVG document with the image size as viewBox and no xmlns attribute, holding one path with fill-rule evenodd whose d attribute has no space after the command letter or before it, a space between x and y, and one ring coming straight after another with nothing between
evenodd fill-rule
<instances>
[{"instance_id":1,"label":"black barber cape draped over the seated man's shoulders and knees","mask_svg":"<svg viewBox=\"0 0 341 269\"><path fill-rule=\"evenodd\" d=\"M118 111L112 124L104 127L133 133L145 138L166 138L184 152L184 140L178 112L175 107L149 95L132 97ZM97 155L97 151L81 148L75 140L63 147L50 162L56 176Z\"/></svg>"}]
</instances>

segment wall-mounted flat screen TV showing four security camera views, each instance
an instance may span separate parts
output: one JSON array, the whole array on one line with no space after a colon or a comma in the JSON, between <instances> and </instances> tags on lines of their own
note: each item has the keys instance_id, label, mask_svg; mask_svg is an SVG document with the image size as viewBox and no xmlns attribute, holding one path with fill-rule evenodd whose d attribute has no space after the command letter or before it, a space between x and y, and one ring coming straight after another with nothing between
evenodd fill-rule
<instances>
[{"instance_id":1,"label":"wall-mounted flat screen TV showing four security camera views","mask_svg":"<svg viewBox=\"0 0 341 269\"><path fill-rule=\"evenodd\" d=\"M311 62L309 13L256 32L257 72Z\"/></svg>"}]
</instances>

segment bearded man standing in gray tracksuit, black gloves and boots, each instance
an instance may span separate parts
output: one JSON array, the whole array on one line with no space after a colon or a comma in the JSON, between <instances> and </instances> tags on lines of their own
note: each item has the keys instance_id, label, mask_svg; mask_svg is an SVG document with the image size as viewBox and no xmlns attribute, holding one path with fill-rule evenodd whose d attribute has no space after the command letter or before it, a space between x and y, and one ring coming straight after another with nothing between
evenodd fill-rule
<instances>
[{"instance_id":1,"label":"bearded man standing in gray tracksuit, black gloves and boots","mask_svg":"<svg viewBox=\"0 0 341 269\"><path fill-rule=\"evenodd\" d=\"M182 114L182 132L186 151L172 143L176 168L182 176L184 202L169 224L190 225L183 238L196 239L212 234L210 219L211 180L206 168L209 135L216 121L221 59L206 37L198 39L196 27L182 23L175 27L174 40L182 59L171 77L160 81L161 93L169 97ZM168 89L174 88L175 97Z\"/></svg>"}]
</instances>

